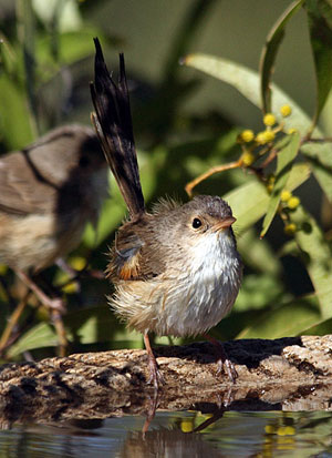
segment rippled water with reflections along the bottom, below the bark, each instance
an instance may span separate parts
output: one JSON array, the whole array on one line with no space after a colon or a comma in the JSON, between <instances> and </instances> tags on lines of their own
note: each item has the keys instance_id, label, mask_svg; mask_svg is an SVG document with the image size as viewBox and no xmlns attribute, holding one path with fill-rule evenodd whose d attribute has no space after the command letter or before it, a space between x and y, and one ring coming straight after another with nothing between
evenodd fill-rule
<instances>
[{"instance_id":1,"label":"rippled water with reflections along the bottom, below the bark","mask_svg":"<svg viewBox=\"0 0 332 458\"><path fill-rule=\"evenodd\" d=\"M141 416L13 425L0 457L332 457L332 413L157 411L145 437Z\"/></svg>"}]
</instances>

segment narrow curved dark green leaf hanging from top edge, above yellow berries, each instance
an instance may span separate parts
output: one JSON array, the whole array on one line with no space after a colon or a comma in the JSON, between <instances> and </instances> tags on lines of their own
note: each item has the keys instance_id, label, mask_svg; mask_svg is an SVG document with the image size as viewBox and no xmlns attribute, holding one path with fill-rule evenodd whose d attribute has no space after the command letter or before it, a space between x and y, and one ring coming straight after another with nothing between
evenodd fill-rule
<instances>
[{"instance_id":1,"label":"narrow curved dark green leaf hanging from top edge, above yellow berries","mask_svg":"<svg viewBox=\"0 0 332 458\"><path fill-rule=\"evenodd\" d=\"M292 2L287 10L281 14L272 27L270 33L267 37L266 44L263 47L260 58L260 75L261 75L261 100L262 110L264 113L271 111L271 90L270 82L273 71L273 65L279 50L280 43L284 35L284 28L292 16L301 8L304 0L298 0Z\"/></svg>"}]
</instances>

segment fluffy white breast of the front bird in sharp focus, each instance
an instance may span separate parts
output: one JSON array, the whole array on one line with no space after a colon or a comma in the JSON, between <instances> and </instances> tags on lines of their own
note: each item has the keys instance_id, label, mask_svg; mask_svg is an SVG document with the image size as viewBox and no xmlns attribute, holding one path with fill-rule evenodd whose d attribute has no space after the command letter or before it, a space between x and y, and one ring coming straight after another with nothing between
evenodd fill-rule
<instances>
[{"instance_id":1,"label":"fluffy white breast of the front bird in sharp focus","mask_svg":"<svg viewBox=\"0 0 332 458\"><path fill-rule=\"evenodd\" d=\"M165 334L206 333L230 312L238 295L241 262L228 232L201 237L190 254L189 265L166 299Z\"/></svg>"}]
</instances>

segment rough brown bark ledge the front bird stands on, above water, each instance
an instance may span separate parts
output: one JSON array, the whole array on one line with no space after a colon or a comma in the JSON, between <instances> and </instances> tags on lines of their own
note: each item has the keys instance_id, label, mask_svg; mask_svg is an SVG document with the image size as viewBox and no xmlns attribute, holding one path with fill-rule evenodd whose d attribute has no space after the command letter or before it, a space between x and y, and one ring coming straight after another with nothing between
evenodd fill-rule
<instances>
[{"instance_id":1,"label":"rough brown bark ledge the front bird stands on, above water","mask_svg":"<svg viewBox=\"0 0 332 458\"><path fill-rule=\"evenodd\" d=\"M238 379L216 375L214 346L159 347L158 408L330 410L332 335L225 344ZM113 350L0 367L0 424L107 418L151 410L145 350Z\"/></svg>"}]
</instances>

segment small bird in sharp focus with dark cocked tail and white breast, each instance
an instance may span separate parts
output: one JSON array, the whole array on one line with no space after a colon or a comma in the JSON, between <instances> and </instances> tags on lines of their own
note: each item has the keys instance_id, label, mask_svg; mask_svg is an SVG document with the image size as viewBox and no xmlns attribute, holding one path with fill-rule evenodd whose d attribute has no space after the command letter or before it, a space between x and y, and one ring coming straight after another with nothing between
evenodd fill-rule
<instances>
[{"instance_id":1,"label":"small bird in sharp focus with dark cocked tail and white breast","mask_svg":"<svg viewBox=\"0 0 332 458\"><path fill-rule=\"evenodd\" d=\"M101 43L95 43L92 122L106 161L127 205L106 276L115 293L110 303L129 328L141 332L149 378L164 383L149 334L206 336L219 352L219 369L237 374L221 343L207 333L227 315L238 295L242 262L231 228L236 218L220 196L198 195L180 204L164 197L146 210L133 133L125 61L120 54L118 82L111 77Z\"/></svg>"}]
</instances>

